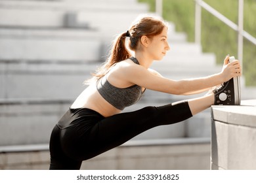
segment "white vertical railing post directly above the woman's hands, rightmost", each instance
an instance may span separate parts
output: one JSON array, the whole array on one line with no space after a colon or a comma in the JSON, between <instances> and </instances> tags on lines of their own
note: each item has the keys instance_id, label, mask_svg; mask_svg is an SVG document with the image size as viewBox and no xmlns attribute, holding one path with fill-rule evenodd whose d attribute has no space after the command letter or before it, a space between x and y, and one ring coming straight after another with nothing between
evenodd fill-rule
<instances>
[{"instance_id":1,"label":"white vertical railing post directly above the woman's hands, rightmost","mask_svg":"<svg viewBox=\"0 0 256 183\"><path fill-rule=\"evenodd\" d=\"M244 0L238 0L238 59L242 65L244 44Z\"/></svg>"}]
</instances>

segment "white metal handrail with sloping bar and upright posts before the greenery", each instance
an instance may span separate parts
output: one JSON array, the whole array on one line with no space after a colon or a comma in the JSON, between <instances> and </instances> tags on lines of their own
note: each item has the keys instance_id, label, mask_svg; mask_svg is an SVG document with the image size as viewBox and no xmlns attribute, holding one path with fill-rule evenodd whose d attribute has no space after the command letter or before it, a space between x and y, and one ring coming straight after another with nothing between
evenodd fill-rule
<instances>
[{"instance_id":1,"label":"white metal handrail with sloping bar and upright posts before the greenery","mask_svg":"<svg viewBox=\"0 0 256 183\"><path fill-rule=\"evenodd\" d=\"M238 59L242 64L243 59L243 39L247 39L256 45L256 38L244 31L244 0L238 0L238 25L234 24L231 20L226 18L223 14L215 10L213 7L208 5L202 0L194 0L196 2L195 12L195 42L201 44L201 19L202 19L202 8L213 14L216 18L224 22L232 29L238 32ZM156 13L162 16L162 0L156 0Z\"/></svg>"}]
</instances>

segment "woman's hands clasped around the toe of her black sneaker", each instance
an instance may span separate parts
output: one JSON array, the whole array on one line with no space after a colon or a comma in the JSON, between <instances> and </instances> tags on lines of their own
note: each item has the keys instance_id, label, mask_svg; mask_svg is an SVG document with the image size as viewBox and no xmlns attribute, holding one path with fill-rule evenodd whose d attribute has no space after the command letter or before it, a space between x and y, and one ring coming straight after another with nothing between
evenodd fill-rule
<instances>
[{"instance_id":1,"label":"woman's hands clasped around the toe of her black sneaker","mask_svg":"<svg viewBox=\"0 0 256 183\"><path fill-rule=\"evenodd\" d=\"M229 63L229 55L224 59L223 69L221 71L224 82L235 76L242 76L242 67L238 59Z\"/></svg>"}]
</instances>

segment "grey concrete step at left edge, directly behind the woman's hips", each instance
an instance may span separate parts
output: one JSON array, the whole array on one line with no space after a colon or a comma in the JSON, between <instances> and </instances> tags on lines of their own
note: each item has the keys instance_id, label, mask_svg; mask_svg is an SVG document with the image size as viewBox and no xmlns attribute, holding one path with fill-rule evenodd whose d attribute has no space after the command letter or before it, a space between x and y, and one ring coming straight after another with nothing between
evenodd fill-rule
<instances>
[{"instance_id":1,"label":"grey concrete step at left edge, directly behind the woman's hips","mask_svg":"<svg viewBox=\"0 0 256 183\"><path fill-rule=\"evenodd\" d=\"M49 143L51 130L68 105L0 105L0 108L0 146L6 146Z\"/></svg>"}]
</instances>

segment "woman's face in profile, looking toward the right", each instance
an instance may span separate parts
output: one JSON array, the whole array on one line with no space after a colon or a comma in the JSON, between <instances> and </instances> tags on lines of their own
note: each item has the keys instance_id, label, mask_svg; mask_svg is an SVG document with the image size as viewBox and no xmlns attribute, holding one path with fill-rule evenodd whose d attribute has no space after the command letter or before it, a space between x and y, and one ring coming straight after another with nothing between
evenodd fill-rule
<instances>
[{"instance_id":1,"label":"woman's face in profile, looking toward the right","mask_svg":"<svg viewBox=\"0 0 256 183\"><path fill-rule=\"evenodd\" d=\"M150 44L148 44L148 54L154 60L161 60L165 56L166 52L170 50L167 42L167 28L163 28L163 31L159 35L152 37Z\"/></svg>"}]
</instances>

